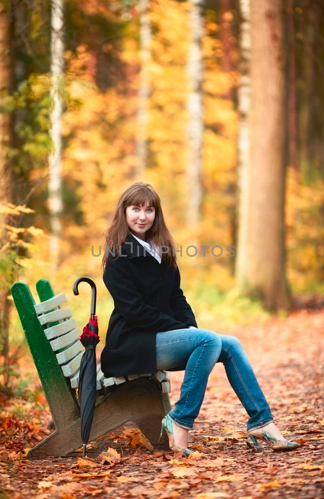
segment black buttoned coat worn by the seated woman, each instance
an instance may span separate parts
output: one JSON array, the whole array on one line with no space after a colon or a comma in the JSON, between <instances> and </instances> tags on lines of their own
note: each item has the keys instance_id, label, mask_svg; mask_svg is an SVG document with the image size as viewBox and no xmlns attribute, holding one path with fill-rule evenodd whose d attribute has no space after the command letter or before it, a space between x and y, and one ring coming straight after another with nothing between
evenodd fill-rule
<instances>
[{"instance_id":1,"label":"black buttoned coat worn by the seated woman","mask_svg":"<svg viewBox=\"0 0 324 499\"><path fill-rule=\"evenodd\" d=\"M128 233L119 256L109 254L103 281L114 300L101 353L106 377L156 372L157 332L197 327L180 288L178 267L159 263ZM119 249L117 248L116 251Z\"/></svg>"}]
</instances>

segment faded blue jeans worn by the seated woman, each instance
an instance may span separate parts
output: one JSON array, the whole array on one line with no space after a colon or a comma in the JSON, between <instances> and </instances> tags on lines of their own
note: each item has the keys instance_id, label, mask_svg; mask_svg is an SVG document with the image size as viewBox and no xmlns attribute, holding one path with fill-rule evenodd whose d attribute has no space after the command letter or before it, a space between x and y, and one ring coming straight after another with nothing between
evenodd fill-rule
<instances>
[{"instance_id":1,"label":"faded blue jeans worn by the seated woman","mask_svg":"<svg viewBox=\"0 0 324 499\"><path fill-rule=\"evenodd\" d=\"M175 329L156 334L157 369L185 371L180 398L169 412L174 423L193 428L204 400L209 374L216 362L224 364L228 380L250 416L247 431L274 421L238 338L217 334L210 329Z\"/></svg>"}]
</instances>

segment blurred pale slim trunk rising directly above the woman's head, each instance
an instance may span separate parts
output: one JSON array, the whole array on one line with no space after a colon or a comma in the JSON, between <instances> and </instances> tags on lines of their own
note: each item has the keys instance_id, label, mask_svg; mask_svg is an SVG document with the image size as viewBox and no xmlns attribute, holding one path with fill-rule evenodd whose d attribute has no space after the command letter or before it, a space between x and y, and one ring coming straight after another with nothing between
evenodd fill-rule
<instances>
[{"instance_id":1,"label":"blurred pale slim trunk rising directly above the woman's head","mask_svg":"<svg viewBox=\"0 0 324 499\"><path fill-rule=\"evenodd\" d=\"M135 172L138 180L144 180L147 164L147 122L148 102L150 96L149 67L151 60L151 25L149 17L149 0L139 0L137 4L140 22L140 61L141 69L138 88L137 137L136 153L138 166Z\"/></svg>"}]
</instances>

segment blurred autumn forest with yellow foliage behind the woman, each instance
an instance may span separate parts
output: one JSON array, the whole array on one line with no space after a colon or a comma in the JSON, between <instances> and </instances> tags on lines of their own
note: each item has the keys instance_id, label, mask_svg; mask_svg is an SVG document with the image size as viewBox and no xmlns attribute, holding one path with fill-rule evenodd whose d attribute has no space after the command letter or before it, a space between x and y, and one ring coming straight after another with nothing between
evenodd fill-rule
<instances>
[{"instance_id":1,"label":"blurred autumn forest with yellow foliage behind the woman","mask_svg":"<svg viewBox=\"0 0 324 499\"><path fill-rule=\"evenodd\" d=\"M17 280L37 296L48 278L82 328L72 284L91 277L100 351L103 232L136 181L160 195L200 327L321 302L320 1L2 0L0 23L2 387L30 355Z\"/></svg>"}]
</instances>

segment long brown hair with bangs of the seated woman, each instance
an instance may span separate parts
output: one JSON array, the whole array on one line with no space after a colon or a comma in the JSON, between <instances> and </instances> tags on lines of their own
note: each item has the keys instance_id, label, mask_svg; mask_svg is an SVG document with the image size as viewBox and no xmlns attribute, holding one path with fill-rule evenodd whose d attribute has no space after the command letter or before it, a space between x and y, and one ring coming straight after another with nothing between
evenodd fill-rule
<instances>
[{"instance_id":1,"label":"long brown hair with bangs of the seated woman","mask_svg":"<svg viewBox=\"0 0 324 499\"><path fill-rule=\"evenodd\" d=\"M167 253L162 252L161 258L168 263L168 266L172 265L174 268L176 267L176 256L173 251L174 240L164 221L161 200L150 184L136 182L129 186L119 198L113 221L104 232L106 240L101 263L103 270L108 263L109 250L111 252L115 251L113 254L117 253L118 258L119 248L123 246L126 240L128 234L128 224L126 221L127 206L142 205L154 206L155 208L155 219L152 227L146 232L147 238L158 248L164 247L162 248L163 251L168 250Z\"/></svg>"}]
</instances>

